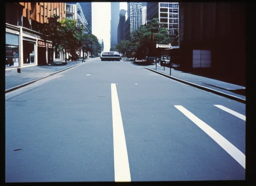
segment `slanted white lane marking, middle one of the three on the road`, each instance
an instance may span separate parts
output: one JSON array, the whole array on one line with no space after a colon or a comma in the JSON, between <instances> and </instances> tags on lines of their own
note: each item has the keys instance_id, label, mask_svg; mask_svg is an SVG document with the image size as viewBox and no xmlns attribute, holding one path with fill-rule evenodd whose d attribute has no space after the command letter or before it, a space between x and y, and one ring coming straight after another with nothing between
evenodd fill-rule
<instances>
[{"instance_id":1,"label":"slanted white lane marking, middle one of the three on the road","mask_svg":"<svg viewBox=\"0 0 256 186\"><path fill-rule=\"evenodd\" d=\"M232 143L226 140L221 134L216 130L211 128L205 122L200 120L194 114L189 112L181 105L174 105L180 112L187 116L191 121L193 121L200 129L202 129L206 134L208 134L214 141L216 141L229 155L231 155L241 166L245 169L245 155L237 149Z\"/></svg>"}]
</instances>

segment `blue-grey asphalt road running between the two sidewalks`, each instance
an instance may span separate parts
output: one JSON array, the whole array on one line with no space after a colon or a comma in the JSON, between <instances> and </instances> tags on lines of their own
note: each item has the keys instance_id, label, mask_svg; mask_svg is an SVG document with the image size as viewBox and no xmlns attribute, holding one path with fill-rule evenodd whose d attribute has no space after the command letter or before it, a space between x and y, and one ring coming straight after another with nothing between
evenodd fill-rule
<instances>
[{"instance_id":1,"label":"blue-grey asphalt road running between the two sidewalks","mask_svg":"<svg viewBox=\"0 0 256 186\"><path fill-rule=\"evenodd\" d=\"M78 65L5 108L6 182L245 179L245 104L130 62Z\"/></svg>"}]
</instances>

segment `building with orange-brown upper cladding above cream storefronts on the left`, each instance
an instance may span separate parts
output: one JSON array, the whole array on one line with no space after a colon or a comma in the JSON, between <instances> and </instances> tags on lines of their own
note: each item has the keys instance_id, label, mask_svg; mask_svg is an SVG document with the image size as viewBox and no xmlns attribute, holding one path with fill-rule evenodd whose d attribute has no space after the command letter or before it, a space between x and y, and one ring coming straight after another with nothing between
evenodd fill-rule
<instances>
[{"instance_id":1,"label":"building with orange-brown upper cladding above cream storefronts on the left","mask_svg":"<svg viewBox=\"0 0 256 186\"><path fill-rule=\"evenodd\" d=\"M44 41L41 30L47 18L66 17L66 3L5 3L5 66L27 67L63 60L62 50Z\"/></svg>"}]
</instances>

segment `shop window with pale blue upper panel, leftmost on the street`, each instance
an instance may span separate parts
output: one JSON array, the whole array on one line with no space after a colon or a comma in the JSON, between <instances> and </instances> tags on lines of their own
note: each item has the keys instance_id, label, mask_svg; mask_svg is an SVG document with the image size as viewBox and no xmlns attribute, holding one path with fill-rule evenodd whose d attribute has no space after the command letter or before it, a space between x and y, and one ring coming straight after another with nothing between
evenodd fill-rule
<instances>
[{"instance_id":1,"label":"shop window with pale blue upper panel, leftmost on the street","mask_svg":"<svg viewBox=\"0 0 256 186\"><path fill-rule=\"evenodd\" d=\"M19 67L19 36L5 33L5 67Z\"/></svg>"}]
</instances>

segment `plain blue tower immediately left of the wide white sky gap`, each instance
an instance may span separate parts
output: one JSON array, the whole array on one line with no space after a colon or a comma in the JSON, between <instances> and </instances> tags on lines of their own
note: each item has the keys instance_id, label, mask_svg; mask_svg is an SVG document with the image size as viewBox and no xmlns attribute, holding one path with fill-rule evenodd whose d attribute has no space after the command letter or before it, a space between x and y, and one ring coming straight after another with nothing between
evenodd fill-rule
<instances>
[{"instance_id":1,"label":"plain blue tower immediately left of the wide white sky gap","mask_svg":"<svg viewBox=\"0 0 256 186\"><path fill-rule=\"evenodd\" d=\"M74 3L67 3L67 4L74 4ZM91 2L79 2L79 5L80 5L80 9L82 10L83 15L85 17L85 20L88 23L88 25L87 25L88 33L92 33L92 3Z\"/></svg>"}]
</instances>

